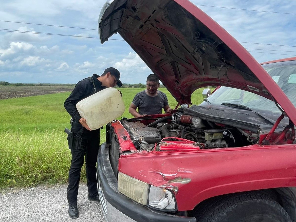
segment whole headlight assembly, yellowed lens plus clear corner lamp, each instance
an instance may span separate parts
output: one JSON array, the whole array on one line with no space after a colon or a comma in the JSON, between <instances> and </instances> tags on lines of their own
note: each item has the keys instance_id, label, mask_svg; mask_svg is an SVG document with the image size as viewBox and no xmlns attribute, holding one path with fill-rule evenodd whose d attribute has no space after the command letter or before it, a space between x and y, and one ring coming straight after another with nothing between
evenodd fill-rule
<instances>
[{"instance_id":1,"label":"whole headlight assembly, yellowed lens plus clear corner lamp","mask_svg":"<svg viewBox=\"0 0 296 222\"><path fill-rule=\"evenodd\" d=\"M170 190L147 184L121 172L118 173L118 191L142 205L176 210L175 198Z\"/></svg>"}]
</instances>

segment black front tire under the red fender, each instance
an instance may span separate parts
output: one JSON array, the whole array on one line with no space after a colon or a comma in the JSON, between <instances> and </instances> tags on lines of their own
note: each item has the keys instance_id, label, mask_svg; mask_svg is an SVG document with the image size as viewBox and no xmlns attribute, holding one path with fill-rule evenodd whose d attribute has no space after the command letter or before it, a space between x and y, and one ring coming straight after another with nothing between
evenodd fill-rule
<instances>
[{"instance_id":1,"label":"black front tire under the red fender","mask_svg":"<svg viewBox=\"0 0 296 222\"><path fill-rule=\"evenodd\" d=\"M230 194L193 210L197 222L292 222L275 200L259 193Z\"/></svg>"}]
</instances>

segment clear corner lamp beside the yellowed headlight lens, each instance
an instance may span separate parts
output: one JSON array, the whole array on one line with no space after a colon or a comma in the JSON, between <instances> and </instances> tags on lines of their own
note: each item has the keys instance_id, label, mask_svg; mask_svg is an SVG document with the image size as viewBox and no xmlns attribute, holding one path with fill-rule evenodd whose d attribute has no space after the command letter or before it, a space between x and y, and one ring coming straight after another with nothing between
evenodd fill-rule
<instances>
[{"instance_id":1,"label":"clear corner lamp beside the yellowed headlight lens","mask_svg":"<svg viewBox=\"0 0 296 222\"><path fill-rule=\"evenodd\" d=\"M150 185L149 205L158 209L175 210L175 198L171 191Z\"/></svg>"}]
</instances>

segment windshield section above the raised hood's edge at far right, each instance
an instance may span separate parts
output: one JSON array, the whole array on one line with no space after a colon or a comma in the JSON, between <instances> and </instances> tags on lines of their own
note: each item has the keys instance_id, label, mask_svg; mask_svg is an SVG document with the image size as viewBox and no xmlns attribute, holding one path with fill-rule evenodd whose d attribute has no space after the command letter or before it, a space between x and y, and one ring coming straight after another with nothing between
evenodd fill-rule
<instances>
[{"instance_id":1,"label":"windshield section above the raised hood's edge at far right","mask_svg":"<svg viewBox=\"0 0 296 222\"><path fill-rule=\"evenodd\" d=\"M262 67L296 106L296 61L274 62Z\"/></svg>"}]
</instances>

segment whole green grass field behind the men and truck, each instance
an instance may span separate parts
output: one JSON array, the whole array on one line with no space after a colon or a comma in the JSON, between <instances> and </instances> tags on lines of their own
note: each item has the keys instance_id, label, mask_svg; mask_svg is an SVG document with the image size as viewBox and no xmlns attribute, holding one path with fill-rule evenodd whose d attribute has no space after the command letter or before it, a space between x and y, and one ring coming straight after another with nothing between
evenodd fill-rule
<instances>
[{"instance_id":1,"label":"whole green grass field behind the men and truck","mask_svg":"<svg viewBox=\"0 0 296 222\"><path fill-rule=\"evenodd\" d=\"M35 86L32 86L35 87ZM128 107L133 96L144 88L120 88L126 110L122 117L132 118ZM165 88L171 108L177 101ZM67 181L71 154L65 127L70 115L63 103L70 92L0 100L0 188L34 186ZM202 89L192 95L192 103L202 102ZM101 130L101 143L105 129ZM84 170L84 169L83 169ZM81 174L82 180L85 173Z\"/></svg>"}]
</instances>

